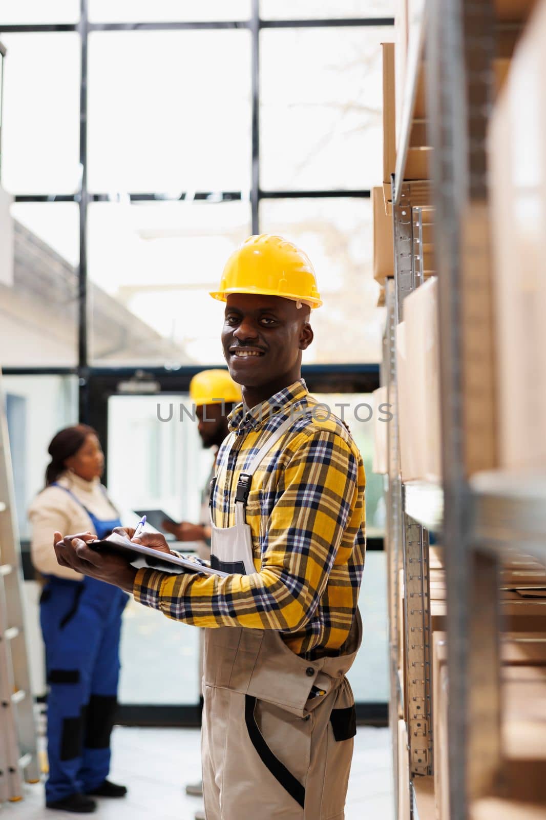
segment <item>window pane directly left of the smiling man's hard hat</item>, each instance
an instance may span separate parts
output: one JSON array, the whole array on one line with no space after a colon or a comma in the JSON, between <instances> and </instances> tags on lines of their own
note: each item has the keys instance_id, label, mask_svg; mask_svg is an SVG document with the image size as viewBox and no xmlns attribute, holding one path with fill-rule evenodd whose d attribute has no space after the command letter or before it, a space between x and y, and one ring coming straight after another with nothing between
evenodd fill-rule
<instances>
[{"instance_id":1,"label":"window pane directly left of the smiling man's hard hat","mask_svg":"<svg viewBox=\"0 0 546 820\"><path fill-rule=\"evenodd\" d=\"M223 363L208 291L250 232L248 202L93 203L88 225L93 359Z\"/></svg>"}]
</instances>

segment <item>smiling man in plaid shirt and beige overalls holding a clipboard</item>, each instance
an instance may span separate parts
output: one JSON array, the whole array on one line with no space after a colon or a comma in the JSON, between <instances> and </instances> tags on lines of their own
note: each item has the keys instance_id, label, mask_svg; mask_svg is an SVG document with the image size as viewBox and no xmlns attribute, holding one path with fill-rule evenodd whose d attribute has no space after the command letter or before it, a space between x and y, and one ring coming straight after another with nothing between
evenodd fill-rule
<instances>
[{"instance_id":1,"label":"smiling man in plaid shirt and beige overalls holding a clipboard","mask_svg":"<svg viewBox=\"0 0 546 820\"><path fill-rule=\"evenodd\" d=\"M342 820L356 732L346 673L362 633L362 458L301 378L321 305L305 253L253 236L212 295L225 301L222 344L243 386L211 497L211 566L228 574L136 571L58 533L57 558L206 627L207 820ZM169 550L160 535L139 541Z\"/></svg>"}]
</instances>

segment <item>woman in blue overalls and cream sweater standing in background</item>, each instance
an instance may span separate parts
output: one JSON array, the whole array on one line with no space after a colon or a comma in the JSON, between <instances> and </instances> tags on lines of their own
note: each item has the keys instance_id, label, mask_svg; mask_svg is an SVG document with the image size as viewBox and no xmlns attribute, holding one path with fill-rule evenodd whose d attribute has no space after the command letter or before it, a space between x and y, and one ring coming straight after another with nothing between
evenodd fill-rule
<instances>
[{"instance_id":1,"label":"woman in blue overalls and cream sweater standing in background","mask_svg":"<svg viewBox=\"0 0 546 820\"><path fill-rule=\"evenodd\" d=\"M48 452L46 487L29 511L32 560L46 581L40 599L49 684L46 805L89 813L96 808L89 795L127 791L107 780L127 595L59 567L52 533L61 528L103 538L121 521L100 483L104 456L93 428L66 427Z\"/></svg>"}]
</instances>

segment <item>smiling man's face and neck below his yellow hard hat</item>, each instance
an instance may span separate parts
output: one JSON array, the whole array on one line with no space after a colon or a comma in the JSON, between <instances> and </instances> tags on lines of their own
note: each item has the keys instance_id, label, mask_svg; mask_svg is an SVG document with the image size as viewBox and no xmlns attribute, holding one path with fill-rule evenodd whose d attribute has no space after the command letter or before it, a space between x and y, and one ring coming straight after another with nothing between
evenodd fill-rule
<instances>
[{"instance_id":1,"label":"smiling man's face and neck below his yellow hard hat","mask_svg":"<svg viewBox=\"0 0 546 820\"><path fill-rule=\"evenodd\" d=\"M300 378L302 351L313 339L309 313L307 305L279 296L228 296L222 346L248 407Z\"/></svg>"}]
</instances>

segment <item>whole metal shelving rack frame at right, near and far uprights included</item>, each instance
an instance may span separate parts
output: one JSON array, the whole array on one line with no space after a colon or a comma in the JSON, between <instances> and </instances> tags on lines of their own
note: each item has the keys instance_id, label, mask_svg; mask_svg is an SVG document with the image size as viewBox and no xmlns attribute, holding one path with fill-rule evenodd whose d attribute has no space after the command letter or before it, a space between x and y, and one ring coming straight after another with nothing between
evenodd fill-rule
<instances>
[{"instance_id":1,"label":"whole metal shelving rack frame at right, near and far uprights included","mask_svg":"<svg viewBox=\"0 0 546 820\"><path fill-rule=\"evenodd\" d=\"M423 225L433 216L443 480L441 485L403 484L398 424L391 423L387 482L391 726L403 715L412 780L430 774L428 531L438 531L447 593L449 748L445 751L451 820L468 820L472 801L494 794L506 773L498 649L500 563L516 548L546 565L546 476L513 476L499 470L496 442L490 435L496 419L485 136L494 98L495 16L503 11L506 28L507 6L501 0L425 2L421 24L410 38L397 173L392 181L394 280L385 283L382 384L387 385L389 403L396 410L396 327L403 319L404 299L421 285L426 272ZM531 6L532 2L512 4L508 13L513 9L518 19L509 21L511 30L522 27ZM427 139L433 149L428 194L427 183L410 183L403 175L423 65ZM472 298L465 298L467 294ZM406 704L397 674L400 567L405 585ZM417 706L425 720L416 717ZM397 742L395 737L395 767ZM397 795L398 817L401 796ZM409 799L412 806L412 787Z\"/></svg>"}]
</instances>

